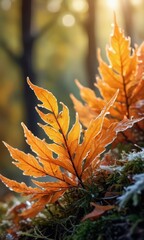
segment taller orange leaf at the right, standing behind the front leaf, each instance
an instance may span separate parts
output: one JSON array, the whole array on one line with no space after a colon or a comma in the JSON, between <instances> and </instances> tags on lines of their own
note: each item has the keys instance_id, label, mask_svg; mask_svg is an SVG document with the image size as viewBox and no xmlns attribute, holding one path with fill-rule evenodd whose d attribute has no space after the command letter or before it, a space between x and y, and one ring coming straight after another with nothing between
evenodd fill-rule
<instances>
[{"instance_id":1,"label":"taller orange leaf at the right, standing behind the front leaf","mask_svg":"<svg viewBox=\"0 0 144 240\"><path fill-rule=\"evenodd\" d=\"M143 116L144 44L138 50L131 49L130 39L124 36L115 19L110 47L107 48L106 53L110 65L107 65L102 60L100 51L98 52L101 77L97 77L97 83L95 84L102 98L97 97L92 90L82 86L78 81L76 81L76 84L80 89L80 95L85 104L71 96L80 120L86 127L88 127L91 119L100 114L106 102L111 99L117 89L119 89L118 97L110 109L109 119L111 119L111 122L121 121L125 116L129 119ZM144 121L135 125L135 129L138 126L141 128L140 131L143 135ZM125 132L125 137L132 141L136 139L136 135L132 130Z\"/></svg>"}]
</instances>

